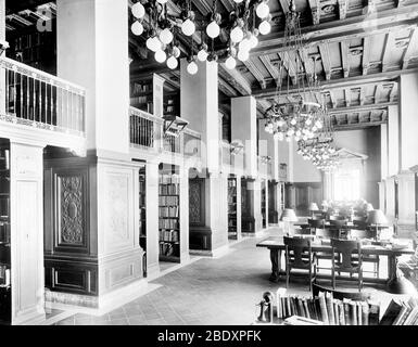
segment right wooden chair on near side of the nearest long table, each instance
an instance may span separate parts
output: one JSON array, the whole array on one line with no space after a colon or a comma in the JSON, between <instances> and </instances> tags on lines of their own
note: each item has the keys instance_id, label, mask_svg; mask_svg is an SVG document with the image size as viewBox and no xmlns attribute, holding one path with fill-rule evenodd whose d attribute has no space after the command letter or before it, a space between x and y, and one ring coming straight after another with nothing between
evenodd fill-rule
<instances>
[{"instance_id":1,"label":"right wooden chair on near side of the nearest long table","mask_svg":"<svg viewBox=\"0 0 418 347\"><path fill-rule=\"evenodd\" d=\"M362 243L352 240L331 239L332 247L332 288L335 288L335 272L349 272L350 277L353 273L358 274L358 292L363 287L363 256ZM353 254L357 256L354 257Z\"/></svg>"}]
</instances>

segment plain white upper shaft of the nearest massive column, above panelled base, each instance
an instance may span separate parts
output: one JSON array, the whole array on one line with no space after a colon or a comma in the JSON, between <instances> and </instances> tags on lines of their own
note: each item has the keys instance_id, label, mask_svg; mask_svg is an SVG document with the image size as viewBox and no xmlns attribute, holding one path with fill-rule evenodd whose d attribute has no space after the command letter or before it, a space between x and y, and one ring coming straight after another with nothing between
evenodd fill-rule
<instances>
[{"instance_id":1,"label":"plain white upper shaft of the nearest massive column, above panelled base","mask_svg":"<svg viewBox=\"0 0 418 347\"><path fill-rule=\"evenodd\" d=\"M86 88L88 150L128 153L128 1L56 0L56 15L58 76Z\"/></svg>"}]
</instances>

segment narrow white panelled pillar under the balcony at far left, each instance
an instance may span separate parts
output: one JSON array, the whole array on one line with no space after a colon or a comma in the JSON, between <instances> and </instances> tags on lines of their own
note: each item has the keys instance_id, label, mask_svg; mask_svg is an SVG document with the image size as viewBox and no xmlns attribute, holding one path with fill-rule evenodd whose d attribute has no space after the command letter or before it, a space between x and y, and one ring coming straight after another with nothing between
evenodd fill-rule
<instances>
[{"instance_id":1,"label":"narrow white panelled pillar under the balcony at far left","mask_svg":"<svg viewBox=\"0 0 418 347\"><path fill-rule=\"evenodd\" d=\"M43 147L11 142L12 324L45 317Z\"/></svg>"}]
</instances>

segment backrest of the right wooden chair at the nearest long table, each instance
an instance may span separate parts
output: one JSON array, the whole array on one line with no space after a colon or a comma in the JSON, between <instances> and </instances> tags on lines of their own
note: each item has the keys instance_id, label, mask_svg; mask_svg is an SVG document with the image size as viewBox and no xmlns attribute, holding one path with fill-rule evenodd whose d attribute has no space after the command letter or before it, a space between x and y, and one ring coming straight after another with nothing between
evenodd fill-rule
<instances>
[{"instance_id":1,"label":"backrest of the right wooden chair at the nearest long table","mask_svg":"<svg viewBox=\"0 0 418 347\"><path fill-rule=\"evenodd\" d=\"M339 255L339 261L335 264L335 268L341 271L356 271L362 267L362 243L354 240L338 240L331 239L332 254ZM357 254L358 258L353 258L353 254ZM353 265L354 261L357 265Z\"/></svg>"}]
</instances>

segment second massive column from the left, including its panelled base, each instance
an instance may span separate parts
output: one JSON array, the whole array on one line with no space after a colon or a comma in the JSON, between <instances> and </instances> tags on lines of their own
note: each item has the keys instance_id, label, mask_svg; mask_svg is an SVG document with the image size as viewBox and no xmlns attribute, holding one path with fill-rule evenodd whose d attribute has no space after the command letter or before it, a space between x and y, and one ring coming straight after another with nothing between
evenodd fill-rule
<instances>
[{"instance_id":1,"label":"second massive column from the left, including its panelled base","mask_svg":"<svg viewBox=\"0 0 418 347\"><path fill-rule=\"evenodd\" d=\"M202 172L205 179L201 198L205 202L204 226L188 226L190 235L210 235L212 249L200 254L215 255L228 247L227 176L220 174L220 125L218 113L217 64L198 62L195 75L187 72L187 60L180 62L181 117L189 128L202 134ZM188 210L188 208L187 208ZM206 237L206 236L205 236ZM203 248L203 244L202 244Z\"/></svg>"}]
</instances>

